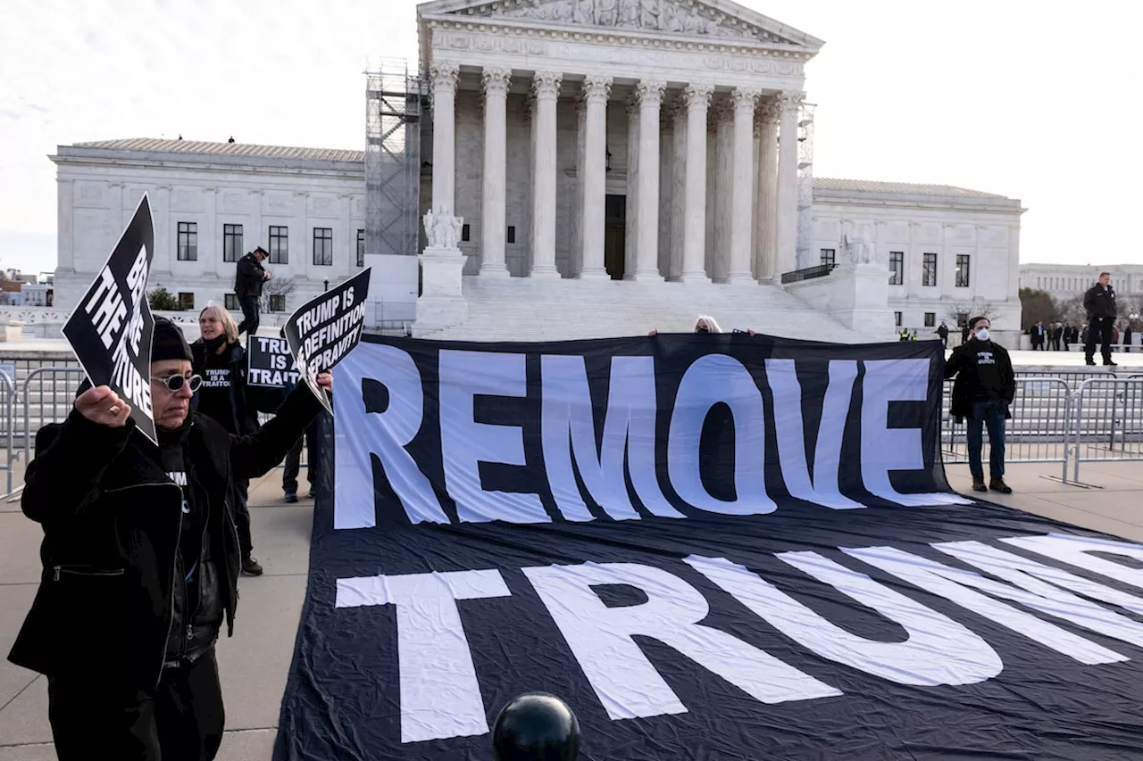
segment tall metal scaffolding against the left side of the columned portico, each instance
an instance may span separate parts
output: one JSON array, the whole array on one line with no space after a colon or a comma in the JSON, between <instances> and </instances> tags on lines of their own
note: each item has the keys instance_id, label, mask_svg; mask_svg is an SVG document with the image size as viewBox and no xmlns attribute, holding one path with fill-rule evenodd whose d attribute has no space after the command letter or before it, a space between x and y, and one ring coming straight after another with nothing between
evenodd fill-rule
<instances>
[{"instance_id":1,"label":"tall metal scaffolding against the left side of the columned portico","mask_svg":"<svg viewBox=\"0 0 1143 761\"><path fill-rule=\"evenodd\" d=\"M422 90L405 61L366 72L366 254L418 253Z\"/></svg>"}]
</instances>

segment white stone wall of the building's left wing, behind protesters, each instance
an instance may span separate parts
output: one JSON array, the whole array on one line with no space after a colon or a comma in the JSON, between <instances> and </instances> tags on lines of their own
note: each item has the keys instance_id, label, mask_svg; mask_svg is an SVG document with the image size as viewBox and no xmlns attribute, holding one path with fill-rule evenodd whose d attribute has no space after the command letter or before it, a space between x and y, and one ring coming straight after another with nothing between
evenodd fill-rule
<instances>
[{"instance_id":1,"label":"white stone wall of the building's left wing, behind protesters","mask_svg":"<svg viewBox=\"0 0 1143 761\"><path fill-rule=\"evenodd\" d=\"M62 219L56 306L75 305L144 193L155 233L149 288L193 294L195 309L210 301L221 304L234 290L235 263L223 261L225 224L242 225L241 254L256 246L269 249L271 225L288 229L288 263L265 265L273 278L295 283L287 311L320 293L325 280L338 282L358 271L357 231L365 229L360 173L274 171L256 160L249 167L195 166L176 157L151 166L126 158L121 163L57 163ZM181 222L198 226L197 261L176 257ZM315 227L333 230L330 266L313 264Z\"/></svg>"}]
</instances>

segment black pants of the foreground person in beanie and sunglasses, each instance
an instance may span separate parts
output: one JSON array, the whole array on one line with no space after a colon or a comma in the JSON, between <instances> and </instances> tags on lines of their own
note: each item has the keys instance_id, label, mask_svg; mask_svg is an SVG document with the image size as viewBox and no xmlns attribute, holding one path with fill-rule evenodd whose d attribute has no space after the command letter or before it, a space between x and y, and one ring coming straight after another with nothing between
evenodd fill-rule
<instances>
[{"instance_id":1,"label":"black pants of the foreground person in beanie and sunglasses","mask_svg":"<svg viewBox=\"0 0 1143 761\"><path fill-rule=\"evenodd\" d=\"M102 681L48 680L48 719L59 761L210 761L225 712L211 649L165 668L157 689L115 694Z\"/></svg>"}]
</instances>

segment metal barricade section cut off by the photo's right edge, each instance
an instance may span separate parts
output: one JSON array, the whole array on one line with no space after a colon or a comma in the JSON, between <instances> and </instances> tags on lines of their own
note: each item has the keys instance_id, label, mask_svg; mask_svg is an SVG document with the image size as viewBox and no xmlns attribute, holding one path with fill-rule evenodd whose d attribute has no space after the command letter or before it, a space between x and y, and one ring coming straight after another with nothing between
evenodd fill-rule
<instances>
[{"instance_id":1,"label":"metal barricade section cut off by the photo's right edge","mask_svg":"<svg viewBox=\"0 0 1143 761\"><path fill-rule=\"evenodd\" d=\"M1143 460L1143 377L1085 380L1074 410L1072 478L1077 484L1080 463Z\"/></svg>"}]
</instances>

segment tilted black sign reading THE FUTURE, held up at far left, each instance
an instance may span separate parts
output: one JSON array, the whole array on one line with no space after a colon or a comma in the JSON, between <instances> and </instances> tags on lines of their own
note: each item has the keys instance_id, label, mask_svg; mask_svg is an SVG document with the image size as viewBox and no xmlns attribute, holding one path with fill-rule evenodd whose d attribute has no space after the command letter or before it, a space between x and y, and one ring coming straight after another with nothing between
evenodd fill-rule
<instances>
[{"instance_id":1,"label":"tilted black sign reading THE FUTURE, held up at far left","mask_svg":"<svg viewBox=\"0 0 1143 761\"><path fill-rule=\"evenodd\" d=\"M95 282L64 325L93 385L107 385L131 406L131 418L155 441L151 409L151 335L154 319L146 279L154 253L154 225L146 195Z\"/></svg>"}]
</instances>

